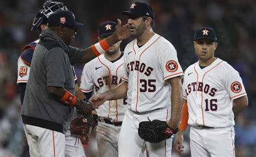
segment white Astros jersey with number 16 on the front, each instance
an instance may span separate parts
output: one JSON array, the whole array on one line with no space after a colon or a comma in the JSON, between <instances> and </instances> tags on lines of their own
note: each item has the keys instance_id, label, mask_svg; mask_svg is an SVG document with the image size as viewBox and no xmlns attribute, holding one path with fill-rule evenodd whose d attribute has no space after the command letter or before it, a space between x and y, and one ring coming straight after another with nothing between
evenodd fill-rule
<instances>
[{"instance_id":1,"label":"white Astros jersey with number 16 on the front","mask_svg":"<svg viewBox=\"0 0 256 157\"><path fill-rule=\"evenodd\" d=\"M183 98L187 99L188 124L192 126L233 126L233 100L244 95L239 73L219 58L204 69L197 62L185 71Z\"/></svg>"}]
</instances>

